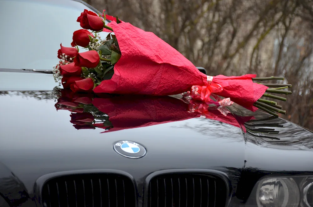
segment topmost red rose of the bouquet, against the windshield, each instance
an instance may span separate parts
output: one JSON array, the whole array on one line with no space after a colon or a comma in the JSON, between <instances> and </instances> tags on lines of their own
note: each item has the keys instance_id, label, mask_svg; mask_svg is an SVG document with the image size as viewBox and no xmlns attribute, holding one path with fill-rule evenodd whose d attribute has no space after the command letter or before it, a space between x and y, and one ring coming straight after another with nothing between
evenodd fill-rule
<instances>
[{"instance_id":1,"label":"topmost red rose of the bouquet, against the windshield","mask_svg":"<svg viewBox=\"0 0 313 207\"><path fill-rule=\"evenodd\" d=\"M103 29L103 19L96 13L84 10L77 18L77 22L80 22L80 27L84 29L90 29L93 31L100 31Z\"/></svg>"}]
</instances>

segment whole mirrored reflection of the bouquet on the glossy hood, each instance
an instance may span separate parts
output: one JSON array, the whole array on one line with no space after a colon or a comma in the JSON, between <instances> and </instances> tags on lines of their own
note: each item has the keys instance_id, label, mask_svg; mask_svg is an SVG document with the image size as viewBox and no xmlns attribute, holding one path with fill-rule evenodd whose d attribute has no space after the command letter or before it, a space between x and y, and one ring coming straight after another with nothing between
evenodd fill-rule
<instances>
[{"instance_id":1,"label":"whole mirrored reflection of the bouquet on the glossy hood","mask_svg":"<svg viewBox=\"0 0 313 207\"><path fill-rule=\"evenodd\" d=\"M71 123L76 129L102 128L111 131L153 126L196 117L218 120L242 128L252 116L222 114L217 106L192 100L189 104L170 96L103 96L56 89L57 110L71 111ZM224 109L223 112L226 110Z\"/></svg>"}]
</instances>

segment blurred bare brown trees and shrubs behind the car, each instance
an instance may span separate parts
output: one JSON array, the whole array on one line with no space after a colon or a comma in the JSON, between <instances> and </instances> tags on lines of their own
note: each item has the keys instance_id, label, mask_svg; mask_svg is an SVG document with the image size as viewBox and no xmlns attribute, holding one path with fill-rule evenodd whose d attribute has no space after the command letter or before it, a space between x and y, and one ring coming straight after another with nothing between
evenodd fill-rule
<instances>
[{"instance_id":1,"label":"blurred bare brown trees and shrubs behind the car","mask_svg":"<svg viewBox=\"0 0 313 207\"><path fill-rule=\"evenodd\" d=\"M313 130L313 1L85 1L154 32L211 76L284 76L293 94L279 102L282 118Z\"/></svg>"}]
</instances>

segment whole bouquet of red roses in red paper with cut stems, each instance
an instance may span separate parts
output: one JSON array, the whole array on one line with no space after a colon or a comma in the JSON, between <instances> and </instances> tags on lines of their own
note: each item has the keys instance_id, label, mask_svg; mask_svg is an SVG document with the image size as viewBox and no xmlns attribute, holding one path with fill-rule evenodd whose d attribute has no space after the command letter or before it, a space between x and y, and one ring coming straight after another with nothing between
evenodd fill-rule
<instances>
[{"instance_id":1,"label":"whole bouquet of red roses in red paper with cut stems","mask_svg":"<svg viewBox=\"0 0 313 207\"><path fill-rule=\"evenodd\" d=\"M105 24L105 19L111 22ZM229 98L245 108L258 108L274 116L285 114L275 101L286 101L269 93L291 94L290 84L262 84L253 80L282 80L283 77L255 78L244 76L206 76L181 53L152 32L145 32L117 17L85 10L77 22L84 29L73 34L72 47L58 51L54 79L74 92L164 96L190 91L193 99L210 102L211 94ZM93 32L88 31L92 30ZM102 31L110 33L104 40ZM81 46L89 51L79 52ZM76 48L75 48L76 47ZM269 88L274 87L274 88Z\"/></svg>"}]
</instances>

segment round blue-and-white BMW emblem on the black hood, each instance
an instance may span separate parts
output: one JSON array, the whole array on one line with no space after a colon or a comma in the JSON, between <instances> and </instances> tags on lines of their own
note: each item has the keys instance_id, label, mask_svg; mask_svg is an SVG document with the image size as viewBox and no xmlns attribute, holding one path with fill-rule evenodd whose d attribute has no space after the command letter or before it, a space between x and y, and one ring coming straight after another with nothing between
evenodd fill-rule
<instances>
[{"instance_id":1,"label":"round blue-and-white BMW emblem on the black hood","mask_svg":"<svg viewBox=\"0 0 313 207\"><path fill-rule=\"evenodd\" d=\"M119 141L114 145L114 150L128 158L140 158L146 155L146 149L140 144L133 141Z\"/></svg>"}]
</instances>

